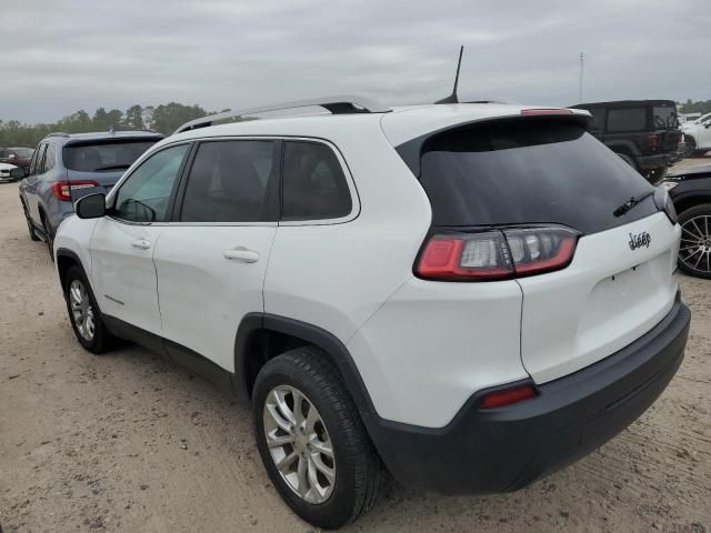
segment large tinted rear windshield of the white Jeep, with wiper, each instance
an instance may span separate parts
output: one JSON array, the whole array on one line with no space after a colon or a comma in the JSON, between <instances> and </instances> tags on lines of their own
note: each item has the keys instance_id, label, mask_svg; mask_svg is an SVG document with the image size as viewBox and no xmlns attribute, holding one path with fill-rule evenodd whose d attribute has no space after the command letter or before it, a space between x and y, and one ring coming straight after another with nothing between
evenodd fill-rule
<instances>
[{"instance_id":1,"label":"large tinted rear windshield of the white Jeep, with wiper","mask_svg":"<svg viewBox=\"0 0 711 533\"><path fill-rule=\"evenodd\" d=\"M649 183L582 127L507 120L437 134L422 145L420 181L432 223L558 223L594 233L657 212L648 199L612 212Z\"/></svg>"}]
</instances>

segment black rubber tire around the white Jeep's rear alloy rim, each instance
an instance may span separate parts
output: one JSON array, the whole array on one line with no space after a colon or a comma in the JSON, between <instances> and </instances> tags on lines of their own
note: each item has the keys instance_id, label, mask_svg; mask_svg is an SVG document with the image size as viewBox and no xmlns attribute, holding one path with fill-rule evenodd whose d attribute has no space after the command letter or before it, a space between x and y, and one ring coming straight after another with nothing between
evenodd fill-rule
<instances>
[{"instance_id":1,"label":"black rubber tire around the white Jeep's rear alloy rim","mask_svg":"<svg viewBox=\"0 0 711 533\"><path fill-rule=\"evenodd\" d=\"M353 522L375 504L385 474L343 380L327 358L321 350L304 346L268 361L254 382L252 418L257 447L281 497L307 522L336 529ZM298 495L270 454L264 410L269 394L279 386L291 386L301 392L317 409L330 438L336 481L323 503L309 503Z\"/></svg>"}]
</instances>

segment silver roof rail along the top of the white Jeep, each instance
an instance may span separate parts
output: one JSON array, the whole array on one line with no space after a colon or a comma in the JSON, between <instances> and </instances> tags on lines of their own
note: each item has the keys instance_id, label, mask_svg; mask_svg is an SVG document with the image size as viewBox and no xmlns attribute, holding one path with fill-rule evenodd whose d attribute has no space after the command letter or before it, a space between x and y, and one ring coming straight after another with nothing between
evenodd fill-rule
<instances>
[{"instance_id":1,"label":"silver roof rail along the top of the white Jeep","mask_svg":"<svg viewBox=\"0 0 711 533\"><path fill-rule=\"evenodd\" d=\"M348 114L348 113L387 113L392 111L388 107L383 107L380 103L363 97L353 95L338 95L338 97L323 97L314 98L311 100L297 100L293 102L274 103L271 105L261 105L259 108L237 109L234 111L224 111L222 113L210 114L200 119L186 122L174 132L182 133L183 131L194 130L197 128L207 128L212 125L213 122L219 120L234 119L237 117L249 117L250 114L267 113L270 111L282 111L287 109L321 107L332 114Z\"/></svg>"}]
</instances>

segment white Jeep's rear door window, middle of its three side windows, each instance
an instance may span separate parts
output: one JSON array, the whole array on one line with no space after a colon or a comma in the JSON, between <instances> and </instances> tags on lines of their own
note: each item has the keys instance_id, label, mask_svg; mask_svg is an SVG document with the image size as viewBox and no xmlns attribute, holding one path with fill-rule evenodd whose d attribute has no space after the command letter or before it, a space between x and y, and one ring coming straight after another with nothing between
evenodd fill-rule
<instances>
[{"instance_id":1,"label":"white Jeep's rear door window, middle of its three side windows","mask_svg":"<svg viewBox=\"0 0 711 533\"><path fill-rule=\"evenodd\" d=\"M210 141L198 149L188 175L183 222L270 220L269 183L277 172L277 141Z\"/></svg>"}]
</instances>

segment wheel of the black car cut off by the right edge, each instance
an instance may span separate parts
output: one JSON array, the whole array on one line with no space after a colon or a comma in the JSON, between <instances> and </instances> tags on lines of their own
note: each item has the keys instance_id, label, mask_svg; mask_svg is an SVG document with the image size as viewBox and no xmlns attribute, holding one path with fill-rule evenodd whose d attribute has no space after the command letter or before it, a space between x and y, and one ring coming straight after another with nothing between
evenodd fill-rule
<instances>
[{"instance_id":1,"label":"wheel of the black car cut off by the right edge","mask_svg":"<svg viewBox=\"0 0 711 533\"><path fill-rule=\"evenodd\" d=\"M683 211L679 215L679 224L682 229L679 270L694 278L711 280L711 203Z\"/></svg>"}]
</instances>

